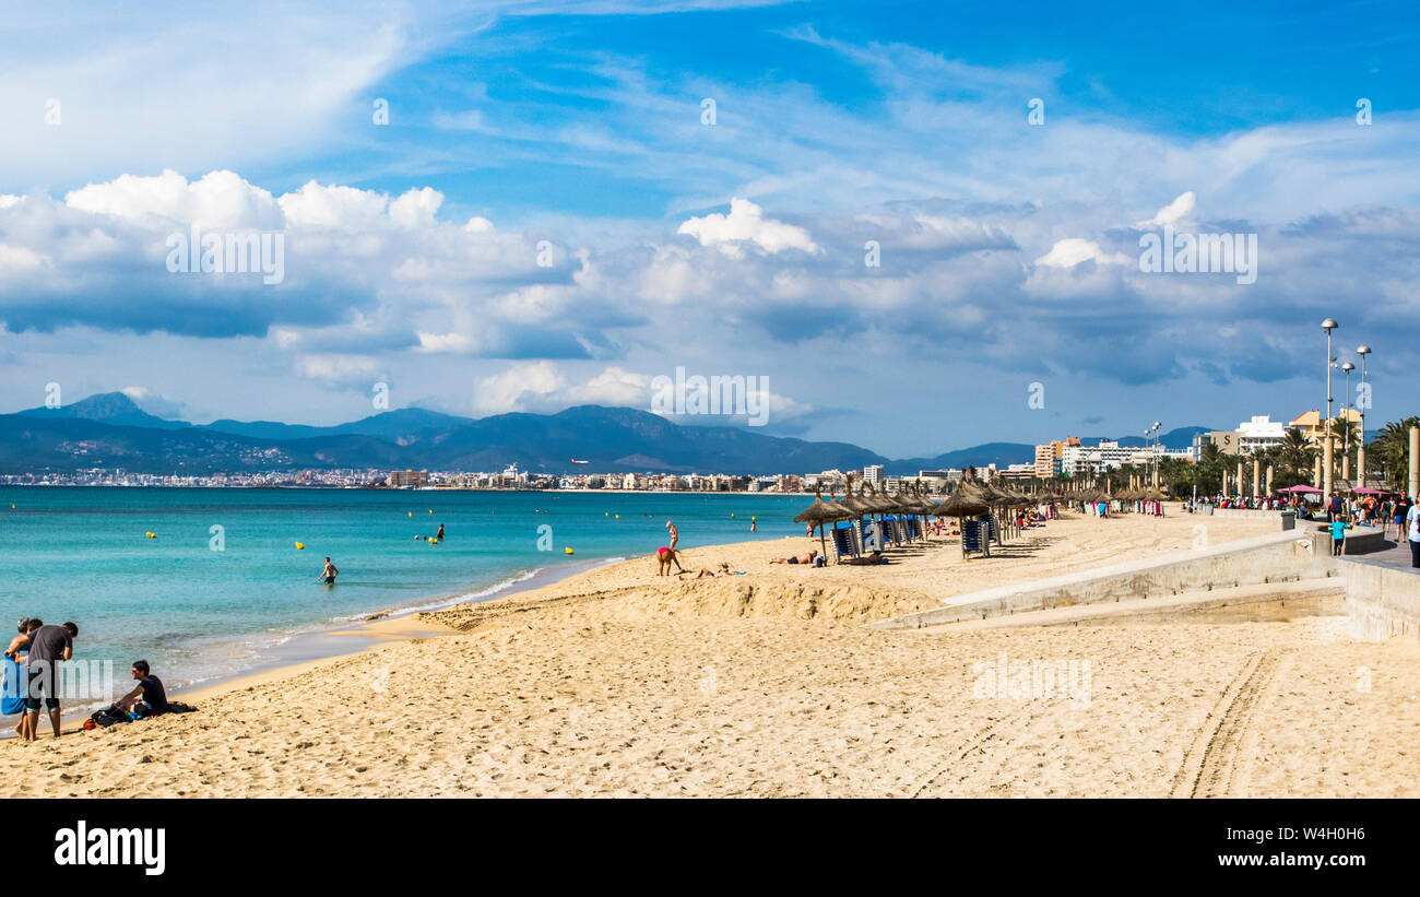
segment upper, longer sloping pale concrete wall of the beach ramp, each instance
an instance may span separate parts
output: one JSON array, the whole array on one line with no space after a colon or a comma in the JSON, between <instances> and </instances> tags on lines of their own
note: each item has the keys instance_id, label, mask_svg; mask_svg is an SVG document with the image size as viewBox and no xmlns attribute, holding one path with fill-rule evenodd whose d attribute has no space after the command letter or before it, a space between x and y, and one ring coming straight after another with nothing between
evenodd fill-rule
<instances>
[{"instance_id":1,"label":"upper, longer sloping pale concrete wall of the beach ramp","mask_svg":"<svg viewBox=\"0 0 1420 897\"><path fill-rule=\"evenodd\" d=\"M1203 524L1206 518L1200 518ZM1335 576L1331 536L1321 532L1274 532L1225 542L1216 548L1181 551L1129 561L1093 571L984 589L949 599L941 607L909 613L875 629L920 629L939 623L1047 610L1069 605L1179 595L1264 582Z\"/></svg>"}]
</instances>

